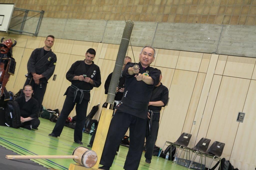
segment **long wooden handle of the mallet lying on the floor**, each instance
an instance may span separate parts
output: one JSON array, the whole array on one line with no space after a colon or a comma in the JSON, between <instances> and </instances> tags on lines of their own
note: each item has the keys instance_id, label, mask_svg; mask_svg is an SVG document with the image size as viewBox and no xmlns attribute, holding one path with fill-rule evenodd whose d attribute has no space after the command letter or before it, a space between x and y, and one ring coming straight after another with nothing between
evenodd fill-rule
<instances>
[{"instance_id":1,"label":"long wooden handle of the mallet lying on the floor","mask_svg":"<svg viewBox=\"0 0 256 170\"><path fill-rule=\"evenodd\" d=\"M6 155L6 159L79 159L77 155Z\"/></svg>"}]
</instances>

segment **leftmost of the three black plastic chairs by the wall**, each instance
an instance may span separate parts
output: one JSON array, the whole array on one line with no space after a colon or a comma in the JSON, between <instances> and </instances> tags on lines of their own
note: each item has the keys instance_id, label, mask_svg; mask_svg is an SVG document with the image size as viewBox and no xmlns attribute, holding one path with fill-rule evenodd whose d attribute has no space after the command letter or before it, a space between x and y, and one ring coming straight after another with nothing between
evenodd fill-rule
<instances>
[{"instance_id":1,"label":"leftmost of the three black plastic chairs by the wall","mask_svg":"<svg viewBox=\"0 0 256 170\"><path fill-rule=\"evenodd\" d=\"M164 146L166 145L166 143L169 143L169 144L171 144L171 145L173 145L173 146L175 146L175 147L179 147L179 150L180 150L181 147L183 148L183 147L187 147L187 146L188 146L188 143L189 143L189 141L190 141L190 139L191 139L191 136L192 136L191 134L182 133L176 142L165 141ZM164 146L163 146L163 149L164 149ZM167 146L168 146L168 145L167 145ZM163 151L163 149L162 149L162 151ZM172 150L172 146L171 146L171 150ZM175 158L176 158L176 156L177 156L179 150L176 152ZM162 152L162 151L161 151L161 152ZM160 154L161 154L161 152L160 152ZM159 155L160 155L160 154L159 154ZM172 154L171 154L171 153L170 153L170 156L172 157ZM158 156L158 157L159 157L159 156ZM175 158L174 158L174 160L175 160ZM174 160L173 160L173 162L174 162Z\"/></svg>"}]
</instances>

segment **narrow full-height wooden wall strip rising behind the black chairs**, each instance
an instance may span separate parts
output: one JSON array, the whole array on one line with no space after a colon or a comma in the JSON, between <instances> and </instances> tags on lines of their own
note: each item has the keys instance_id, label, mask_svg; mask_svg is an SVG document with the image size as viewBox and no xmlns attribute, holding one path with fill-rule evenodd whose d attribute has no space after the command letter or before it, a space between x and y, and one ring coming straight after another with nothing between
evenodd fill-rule
<instances>
[{"instance_id":1,"label":"narrow full-height wooden wall strip rising behind the black chairs","mask_svg":"<svg viewBox=\"0 0 256 170\"><path fill-rule=\"evenodd\" d=\"M199 99L199 102L198 102L196 114L195 114L195 117L194 117L194 120L193 120L193 121L196 121L196 124L192 125L191 132L190 132L192 134L192 137L190 139L189 147L194 147L195 146L195 141L197 139L198 129L200 127L200 122L201 122L201 119L202 119L202 116L203 116L203 113L204 113L206 101L207 101L209 90L210 90L211 83L212 83L212 80L213 80L214 70L215 70L215 67L216 67L217 59L218 59L218 55L216 55L216 54L211 55L209 67L208 67L208 70L207 70L207 73L206 73L204 85L202 87L202 91L201 91L200 99Z\"/></svg>"}]
</instances>

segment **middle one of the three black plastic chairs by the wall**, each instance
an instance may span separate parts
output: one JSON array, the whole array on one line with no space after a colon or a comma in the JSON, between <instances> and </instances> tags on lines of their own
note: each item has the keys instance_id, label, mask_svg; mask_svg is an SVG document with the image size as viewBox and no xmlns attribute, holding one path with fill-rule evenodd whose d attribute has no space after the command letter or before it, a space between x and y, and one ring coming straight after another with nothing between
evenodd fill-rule
<instances>
[{"instance_id":1,"label":"middle one of the three black plastic chairs by the wall","mask_svg":"<svg viewBox=\"0 0 256 170\"><path fill-rule=\"evenodd\" d=\"M199 140L199 142L196 144L196 146L194 148L188 148L188 147L185 147L185 149L188 149L188 150L191 150L192 151L192 155L191 155L191 158L193 156L193 152L195 152L195 155L189 165L188 168L191 167L191 165L193 164L193 162L195 161L197 155L199 152L206 152L209 144L210 144L211 140L210 139L206 139L206 138L201 138ZM201 157L202 157L202 154L200 153L200 159L199 161L201 160ZM202 160L201 160L201 164L202 164Z\"/></svg>"}]
</instances>

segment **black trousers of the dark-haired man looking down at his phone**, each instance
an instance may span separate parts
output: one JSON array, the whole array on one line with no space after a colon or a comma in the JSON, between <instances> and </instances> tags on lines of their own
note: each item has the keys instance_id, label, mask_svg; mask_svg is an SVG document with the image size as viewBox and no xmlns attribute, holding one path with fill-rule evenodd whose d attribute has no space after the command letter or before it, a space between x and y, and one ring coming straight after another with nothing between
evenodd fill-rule
<instances>
[{"instance_id":1,"label":"black trousers of the dark-haired man looking down at his phone","mask_svg":"<svg viewBox=\"0 0 256 170\"><path fill-rule=\"evenodd\" d=\"M52 133L54 133L57 136L60 136L65 121L76 104L77 121L74 130L74 141L82 141L83 127L85 124L89 100L82 99L82 102L79 104L79 99L80 97L77 96L76 100L74 101L74 97L66 96L65 102L60 112L60 117L58 118L58 121L56 122L54 129L52 130Z\"/></svg>"}]
</instances>

